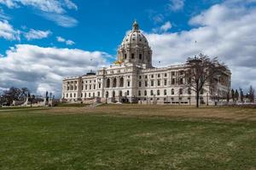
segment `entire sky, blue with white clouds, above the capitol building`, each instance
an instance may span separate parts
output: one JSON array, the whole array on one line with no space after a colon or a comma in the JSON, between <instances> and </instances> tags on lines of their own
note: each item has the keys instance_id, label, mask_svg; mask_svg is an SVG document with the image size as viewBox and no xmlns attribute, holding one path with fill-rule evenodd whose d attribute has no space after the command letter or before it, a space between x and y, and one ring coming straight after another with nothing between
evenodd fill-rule
<instances>
[{"instance_id":1,"label":"entire sky, blue with white clouds, above the capitol building","mask_svg":"<svg viewBox=\"0 0 256 170\"><path fill-rule=\"evenodd\" d=\"M256 88L256 0L0 0L0 91L60 96L63 77L113 64L134 20L154 66L207 54Z\"/></svg>"}]
</instances>

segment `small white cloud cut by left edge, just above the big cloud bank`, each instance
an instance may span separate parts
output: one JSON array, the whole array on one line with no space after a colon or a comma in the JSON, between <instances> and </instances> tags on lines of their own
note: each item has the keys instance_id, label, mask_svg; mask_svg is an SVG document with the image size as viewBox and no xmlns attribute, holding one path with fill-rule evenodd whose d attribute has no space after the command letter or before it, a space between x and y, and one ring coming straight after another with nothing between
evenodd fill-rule
<instances>
[{"instance_id":1,"label":"small white cloud cut by left edge, just above the big cloud bank","mask_svg":"<svg viewBox=\"0 0 256 170\"><path fill-rule=\"evenodd\" d=\"M11 26L8 20L0 20L0 37L7 40L19 40L20 41L20 31L15 30Z\"/></svg>"}]
</instances>

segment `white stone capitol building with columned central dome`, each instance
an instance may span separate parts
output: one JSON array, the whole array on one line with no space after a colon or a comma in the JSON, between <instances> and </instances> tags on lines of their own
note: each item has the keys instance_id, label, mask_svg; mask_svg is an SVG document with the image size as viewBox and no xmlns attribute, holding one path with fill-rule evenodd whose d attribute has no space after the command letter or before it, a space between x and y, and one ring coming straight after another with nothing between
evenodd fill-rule
<instances>
[{"instance_id":1,"label":"white stone capitol building with columned central dome","mask_svg":"<svg viewBox=\"0 0 256 170\"><path fill-rule=\"evenodd\" d=\"M152 49L135 21L119 46L114 65L96 73L64 78L61 99L80 103L97 99L106 103L192 105L195 92L185 86L186 68L186 64L154 67ZM214 87L201 90L201 105L224 99L229 89L230 72L224 72Z\"/></svg>"}]
</instances>

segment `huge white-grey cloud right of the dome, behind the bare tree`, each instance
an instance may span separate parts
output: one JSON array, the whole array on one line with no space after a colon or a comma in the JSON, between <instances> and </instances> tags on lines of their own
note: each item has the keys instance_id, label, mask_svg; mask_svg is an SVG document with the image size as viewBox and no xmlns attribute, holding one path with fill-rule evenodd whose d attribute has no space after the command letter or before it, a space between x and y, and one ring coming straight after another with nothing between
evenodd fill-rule
<instances>
[{"instance_id":1,"label":"huge white-grey cloud right of the dome, behind the bare tree","mask_svg":"<svg viewBox=\"0 0 256 170\"><path fill-rule=\"evenodd\" d=\"M221 3L189 20L189 31L147 34L157 66L175 65L195 54L218 56L232 71L235 88L256 87L256 8ZM196 41L196 43L195 43Z\"/></svg>"}]
</instances>

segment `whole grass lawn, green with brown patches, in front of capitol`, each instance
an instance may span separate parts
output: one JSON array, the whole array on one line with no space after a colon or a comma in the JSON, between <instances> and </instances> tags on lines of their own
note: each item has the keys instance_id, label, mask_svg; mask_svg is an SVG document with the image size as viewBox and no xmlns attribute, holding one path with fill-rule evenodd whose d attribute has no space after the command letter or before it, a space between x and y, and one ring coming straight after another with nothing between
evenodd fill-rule
<instances>
[{"instance_id":1,"label":"whole grass lawn, green with brown patches, in front of capitol","mask_svg":"<svg viewBox=\"0 0 256 170\"><path fill-rule=\"evenodd\" d=\"M0 169L256 169L256 109L0 111Z\"/></svg>"}]
</instances>

